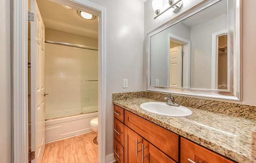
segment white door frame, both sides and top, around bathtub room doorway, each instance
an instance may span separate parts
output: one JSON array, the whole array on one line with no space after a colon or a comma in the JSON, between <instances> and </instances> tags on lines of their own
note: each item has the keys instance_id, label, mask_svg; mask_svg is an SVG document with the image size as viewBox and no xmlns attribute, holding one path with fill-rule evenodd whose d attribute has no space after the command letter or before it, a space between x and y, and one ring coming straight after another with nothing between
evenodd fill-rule
<instances>
[{"instance_id":1,"label":"white door frame, both sides and top, around bathtub room doorway","mask_svg":"<svg viewBox=\"0 0 256 163\"><path fill-rule=\"evenodd\" d=\"M89 0L54 0L64 4L89 7L99 15L99 145L98 162L106 161L106 7ZM28 162L28 0L13 0L11 11L11 82L12 82L12 162Z\"/></svg>"}]
</instances>

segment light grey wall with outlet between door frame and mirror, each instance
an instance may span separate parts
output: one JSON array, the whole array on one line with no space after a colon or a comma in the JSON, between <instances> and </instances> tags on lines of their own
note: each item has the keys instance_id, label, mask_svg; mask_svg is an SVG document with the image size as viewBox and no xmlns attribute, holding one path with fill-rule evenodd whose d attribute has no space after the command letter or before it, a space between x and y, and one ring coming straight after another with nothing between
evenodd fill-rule
<instances>
[{"instance_id":1,"label":"light grey wall with outlet between door frame and mirror","mask_svg":"<svg viewBox=\"0 0 256 163\"><path fill-rule=\"evenodd\" d=\"M144 5L139 0L90 0L106 7L106 155L113 154L113 92L143 90ZM129 87L123 89L123 79Z\"/></svg>"}]
</instances>

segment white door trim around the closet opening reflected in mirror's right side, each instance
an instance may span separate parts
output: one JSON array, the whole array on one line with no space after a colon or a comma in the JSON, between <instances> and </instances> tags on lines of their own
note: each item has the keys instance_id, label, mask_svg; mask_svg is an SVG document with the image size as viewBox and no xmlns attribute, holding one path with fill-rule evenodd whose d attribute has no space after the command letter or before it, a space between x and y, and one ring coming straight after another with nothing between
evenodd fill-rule
<instances>
[{"instance_id":1,"label":"white door trim around the closet opening reflected in mirror's right side","mask_svg":"<svg viewBox=\"0 0 256 163\"><path fill-rule=\"evenodd\" d=\"M222 30L212 33L212 75L211 75L211 89L218 89L218 36L227 34L228 30Z\"/></svg>"}]
</instances>

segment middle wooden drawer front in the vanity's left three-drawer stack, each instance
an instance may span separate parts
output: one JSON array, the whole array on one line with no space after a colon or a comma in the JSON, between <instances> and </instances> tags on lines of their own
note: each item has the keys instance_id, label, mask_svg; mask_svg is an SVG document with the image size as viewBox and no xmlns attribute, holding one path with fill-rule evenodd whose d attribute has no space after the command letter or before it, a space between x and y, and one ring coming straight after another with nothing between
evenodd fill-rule
<instances>
[{"instance_id":1,"label":"middle wooden drawer front in the vanity's left three-drawer stack","mask_svg":"<svg viewBox=\"0 0 256 163\"><path fill-rule=\"evenodd\" d=\"M124 123L114 118L114 137L124 147Z\"/></svg>"}]
</instances>

